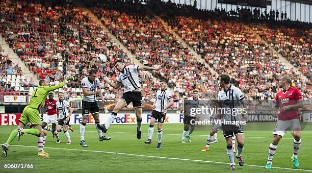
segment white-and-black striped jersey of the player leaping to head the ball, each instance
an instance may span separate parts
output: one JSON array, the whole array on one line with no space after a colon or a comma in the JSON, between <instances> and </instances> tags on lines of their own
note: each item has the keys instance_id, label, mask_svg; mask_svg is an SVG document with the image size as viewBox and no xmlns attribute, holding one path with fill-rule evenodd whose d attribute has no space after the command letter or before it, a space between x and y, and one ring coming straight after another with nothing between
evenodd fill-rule
<instances>
[{"instance_id":1,"label":"white-and-black striped jersey of the player leaping to head the ball","mask_svg":"<svg viewBox=\"0 0 312 173\"><path fill-rule=\"evenodd\" d=\"M133 91L141 87L138 68L138 65L127 65L123 68L123 72L119 74L117 82L123 84L124 92Z\"/></svg>"}]
</instances>

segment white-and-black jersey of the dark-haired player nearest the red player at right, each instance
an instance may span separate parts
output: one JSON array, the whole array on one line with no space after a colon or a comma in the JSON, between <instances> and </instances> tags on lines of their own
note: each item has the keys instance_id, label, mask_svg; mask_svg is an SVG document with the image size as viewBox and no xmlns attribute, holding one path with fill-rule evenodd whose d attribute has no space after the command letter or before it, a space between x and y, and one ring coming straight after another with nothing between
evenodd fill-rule
<instances>
[{"instance_id":1,"label":"white-and-black jersey of the dark-haired player nearest the red player at right","mask_svg":"<svg viewBox=\"0 0 312 173\"><path fill-rule=\"evenodd\" d=\"M241 89L231 86L228 88L227 91L222 89L218 93L218 100L224 108L222 112L222 121L239 121L241 120L241 113L242 111L238 112L238 108L241 107L240 100L244 98L244 94Z\"/></svg>"}]
</instances>

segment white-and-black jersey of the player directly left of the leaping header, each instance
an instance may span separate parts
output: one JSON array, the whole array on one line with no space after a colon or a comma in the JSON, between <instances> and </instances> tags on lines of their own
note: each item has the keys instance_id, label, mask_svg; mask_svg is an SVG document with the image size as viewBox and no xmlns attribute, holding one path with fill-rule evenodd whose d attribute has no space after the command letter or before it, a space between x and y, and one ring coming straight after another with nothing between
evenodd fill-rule
<instances>
[{"instance_id":1,"label":"white-and-black jersey of the player directly left of the leaping header","mask_svg":"<svg viewBox=\"0 0 312 173\"><path fill-rule=\"evenodd\" d=\"M98 78L95 78L93 82L91 82L88 77L85 77L84 79L81 80L81 87L88 88L88 91L92 92L96 91L99 85L100 82ZM96 102L96 94L84 95L82 100L85 102Z\"/></svg>"}]
</instances>

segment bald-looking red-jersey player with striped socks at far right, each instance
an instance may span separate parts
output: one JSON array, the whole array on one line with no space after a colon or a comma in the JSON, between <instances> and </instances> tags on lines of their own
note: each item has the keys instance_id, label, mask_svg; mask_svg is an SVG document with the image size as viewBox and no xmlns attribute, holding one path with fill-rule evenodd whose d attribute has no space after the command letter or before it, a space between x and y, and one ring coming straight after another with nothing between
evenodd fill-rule
<instances>
[{"instance_id":1,"label":"bald-looking red-jersey player with striped socks at far right","mask_svg":"<svg viewBox=\"0 0 312 173\"><path fill-rule=\"evenodd\" d=\"M278 111L274 112L273 115L275 117L278 116L278 120L273 132L273 141L269 146L269 157L266 165L267 169L271 169L277 144L288 130L294 136L294 154L291 158L294 166L299 167L297 154L301 144L301 128L298 109L304 106L303 98L297 88L291 87L292 79L290 77L281 77L278 84L283 88L283 91L278 92L275 96L275 108L277 108Z\"/></svg>"}]
</instances>

